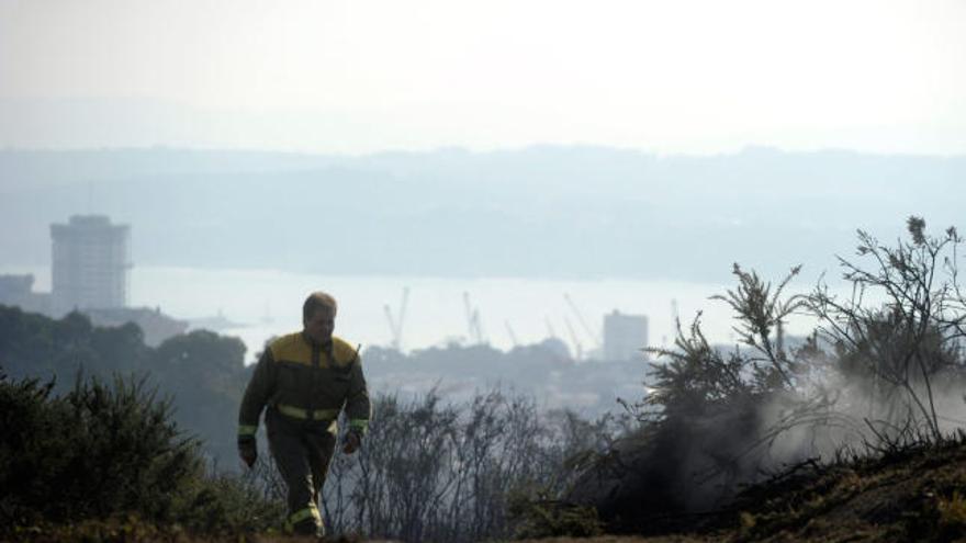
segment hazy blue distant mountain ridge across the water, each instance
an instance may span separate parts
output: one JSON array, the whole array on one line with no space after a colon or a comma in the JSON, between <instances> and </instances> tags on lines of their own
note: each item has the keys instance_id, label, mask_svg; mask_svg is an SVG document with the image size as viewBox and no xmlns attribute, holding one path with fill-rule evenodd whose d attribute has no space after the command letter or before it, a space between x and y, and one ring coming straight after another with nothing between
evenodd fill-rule
<instances>
[{"instance_id":1,"label":"hazy blue distant mountain ridge across the water","mask_svg":"<svg viewBox=\"0 0 966 543\"><path fill-rule=\"evenodd\" d=\"M708 157L606 147L360 157L175 148L0 151L0 254L49 261L48 225L132 225L135 264L334 274L727 281L816 274L852 233L962 226L966 157Z\"/></svg>"}]
</instances>

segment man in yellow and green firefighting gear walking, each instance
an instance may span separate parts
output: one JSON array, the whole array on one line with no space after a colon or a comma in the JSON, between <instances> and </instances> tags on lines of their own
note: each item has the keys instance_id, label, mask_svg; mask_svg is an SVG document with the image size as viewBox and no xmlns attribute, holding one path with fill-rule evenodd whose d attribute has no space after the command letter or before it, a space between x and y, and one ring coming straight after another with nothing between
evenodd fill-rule
<instances>
[{"instance_id":1,"label":"man in yellow and green firefighting gear walking","mask_svg":"<svg viewBox=\"0 0 966 543\"><path fill-rule=\"evenodd\" d=\"M323 536L319 491L345 411L342 451L352 454L369 427L370 404L359 348L333 336L337 305L323 292L302 306L300 332L266 347L245 389L238 414L238 453L251 467L262 408L268 443L288 486L285 532Z\"/></svg>"}]
</instances>

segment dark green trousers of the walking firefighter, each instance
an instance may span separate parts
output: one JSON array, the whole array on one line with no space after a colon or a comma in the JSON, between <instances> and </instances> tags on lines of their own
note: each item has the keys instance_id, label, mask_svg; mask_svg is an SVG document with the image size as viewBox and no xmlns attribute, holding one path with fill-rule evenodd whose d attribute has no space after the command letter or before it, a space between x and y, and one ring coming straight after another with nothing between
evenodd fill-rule
<instances>
[{"instance_id":1,"label":"dark green trousers of the walking firefighter","mask_svg":"<svg viewBox=\"0 0 966 543\"><path fill-rule=\"evenodd\" d=\"M296 420L269 409L266 427L269 448L288 487L285 531L324 535L319 493L336 446L335 425Z\"/></svg>"}]
</instances>

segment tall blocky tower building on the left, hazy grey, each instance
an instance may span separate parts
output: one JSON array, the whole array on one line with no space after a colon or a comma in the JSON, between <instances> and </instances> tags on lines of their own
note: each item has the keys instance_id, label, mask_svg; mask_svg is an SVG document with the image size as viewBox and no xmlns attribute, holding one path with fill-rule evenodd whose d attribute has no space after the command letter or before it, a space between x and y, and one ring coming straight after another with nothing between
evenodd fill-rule
<instances>
[{"instance_id":1,"label":"tall blocky tower building on the left, hazy grey","mask_svg":"<svg viewBox=\"0 0 966 543\"><path fill-rule=\"evenodd\" d=\"M55 314L127 305L130 230L103 215L74 215L66 225L50 225Z\"/></svg>"}]
</instances>

